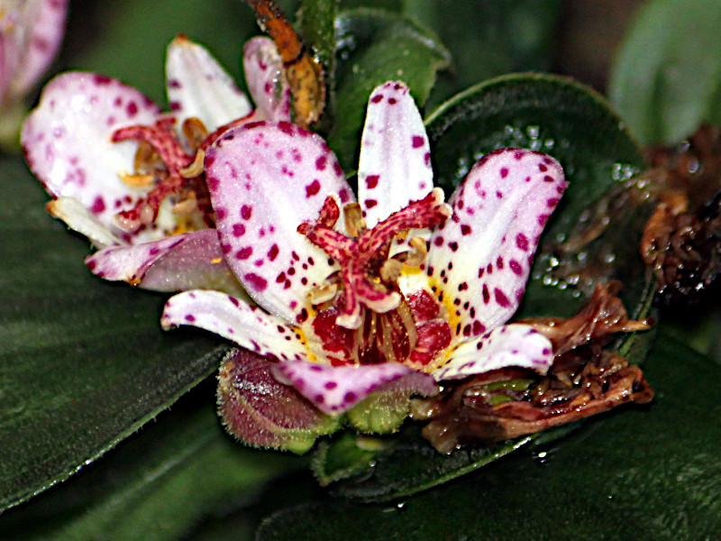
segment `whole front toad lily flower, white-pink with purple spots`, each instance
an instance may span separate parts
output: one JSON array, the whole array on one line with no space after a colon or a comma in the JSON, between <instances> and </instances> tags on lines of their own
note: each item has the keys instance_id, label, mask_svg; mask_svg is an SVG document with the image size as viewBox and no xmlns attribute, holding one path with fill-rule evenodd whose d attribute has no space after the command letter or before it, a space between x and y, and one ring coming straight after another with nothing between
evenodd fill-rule
<instances>
[{"instance_id":1,"label":"whole front toad lily flower, white-pink with purple spots","mask_svg":"<svg viewBox=\"0 0 721 541\"><path fill-rule=\"evenodd\" d=\"M358 203L323 140L291 124L224 133L205 169L226 261L259 307L186 291L169 299L164 327L248 348L332 417L391 388L407 399L552 363L547 338L504 325L566 187L552 158L491 152L443 203L421 116L388 82L370 96Z\"/></svg>"}]
</instances>

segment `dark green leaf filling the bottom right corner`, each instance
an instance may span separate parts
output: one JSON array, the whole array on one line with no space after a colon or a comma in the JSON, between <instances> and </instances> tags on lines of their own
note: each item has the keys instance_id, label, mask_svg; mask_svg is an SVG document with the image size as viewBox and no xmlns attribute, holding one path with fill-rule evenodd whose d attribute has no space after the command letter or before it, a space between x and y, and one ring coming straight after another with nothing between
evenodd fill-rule
<instances>
[{"instance_id":1,"label":"dark green leaf filling the bottom right corner","mask_svg":"<svg viewBox=\"0 0 721 541\"><path fill-rule=\"evenodd\" d=\"M397 505L323 500L278 512L257 539L715 539L721 369L662 337L646 373L657 391L649 407Z\"/></svg>"}]
</instances>

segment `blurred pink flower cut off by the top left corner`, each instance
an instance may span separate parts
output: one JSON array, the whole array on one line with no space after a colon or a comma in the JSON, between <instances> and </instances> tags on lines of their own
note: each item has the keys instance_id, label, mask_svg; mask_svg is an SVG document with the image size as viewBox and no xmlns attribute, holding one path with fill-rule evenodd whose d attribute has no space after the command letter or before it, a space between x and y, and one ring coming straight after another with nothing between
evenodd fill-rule
<instances>
[{"instance_id":1,"label":"blurred pink flower cut off by the top left corner","mask_svg":"<svg viewBox=\"0 0 721 541\"><path fill-rule=\"evenodd\" d=\"M0 138L17 144L23 97L50 66L65 33L68 0L0 0Z\"/></svg>"}]
</instances>

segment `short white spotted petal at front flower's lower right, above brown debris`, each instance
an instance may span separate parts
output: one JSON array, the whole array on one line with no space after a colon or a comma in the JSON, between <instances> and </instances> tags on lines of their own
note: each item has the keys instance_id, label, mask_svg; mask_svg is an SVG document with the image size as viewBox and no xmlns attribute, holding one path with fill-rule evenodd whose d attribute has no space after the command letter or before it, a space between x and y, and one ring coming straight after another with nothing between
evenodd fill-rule
<instances>
[{"instance_id":1,"label":"short white spotted petal at front flower's lower right, above brown debris","mask_svg":"<svg viewBox=\"0 0 721 541\"><path fill-rule=\"evenodd\" d=\"M530 326L500 326L460 344L433 376L435 381L460 380L511 366L530 368L543 375L553 363L552 350L551 341Z\"/></svg>"}]
</instances>

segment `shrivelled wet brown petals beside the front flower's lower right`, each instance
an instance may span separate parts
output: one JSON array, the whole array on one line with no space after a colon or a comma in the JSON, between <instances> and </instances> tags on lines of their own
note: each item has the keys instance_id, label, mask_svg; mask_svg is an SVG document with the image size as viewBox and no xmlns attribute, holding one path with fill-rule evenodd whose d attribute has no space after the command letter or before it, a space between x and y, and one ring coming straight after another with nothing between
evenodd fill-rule
<instances>
[{"instance_id":1,"label":"shrivelled wet brown petals beside the front flower's lower right","mask_svg":"<svg viewBox=\"0 0 721 541\"><path fill-rule=\"evenodd\" d=\"M619 284L599 284L587 305L568 319L535 318L525 324L547 335L556 353L542 378L534 371L502 369L450 383L430 399L415 399L411 417L429 420L423 434L441 453L467 444L488 445L589 417L626 402L653 399L637 366L602 344L616 332L649 327L629 319L616 298Z\"/></svg>"}]
</instances>

